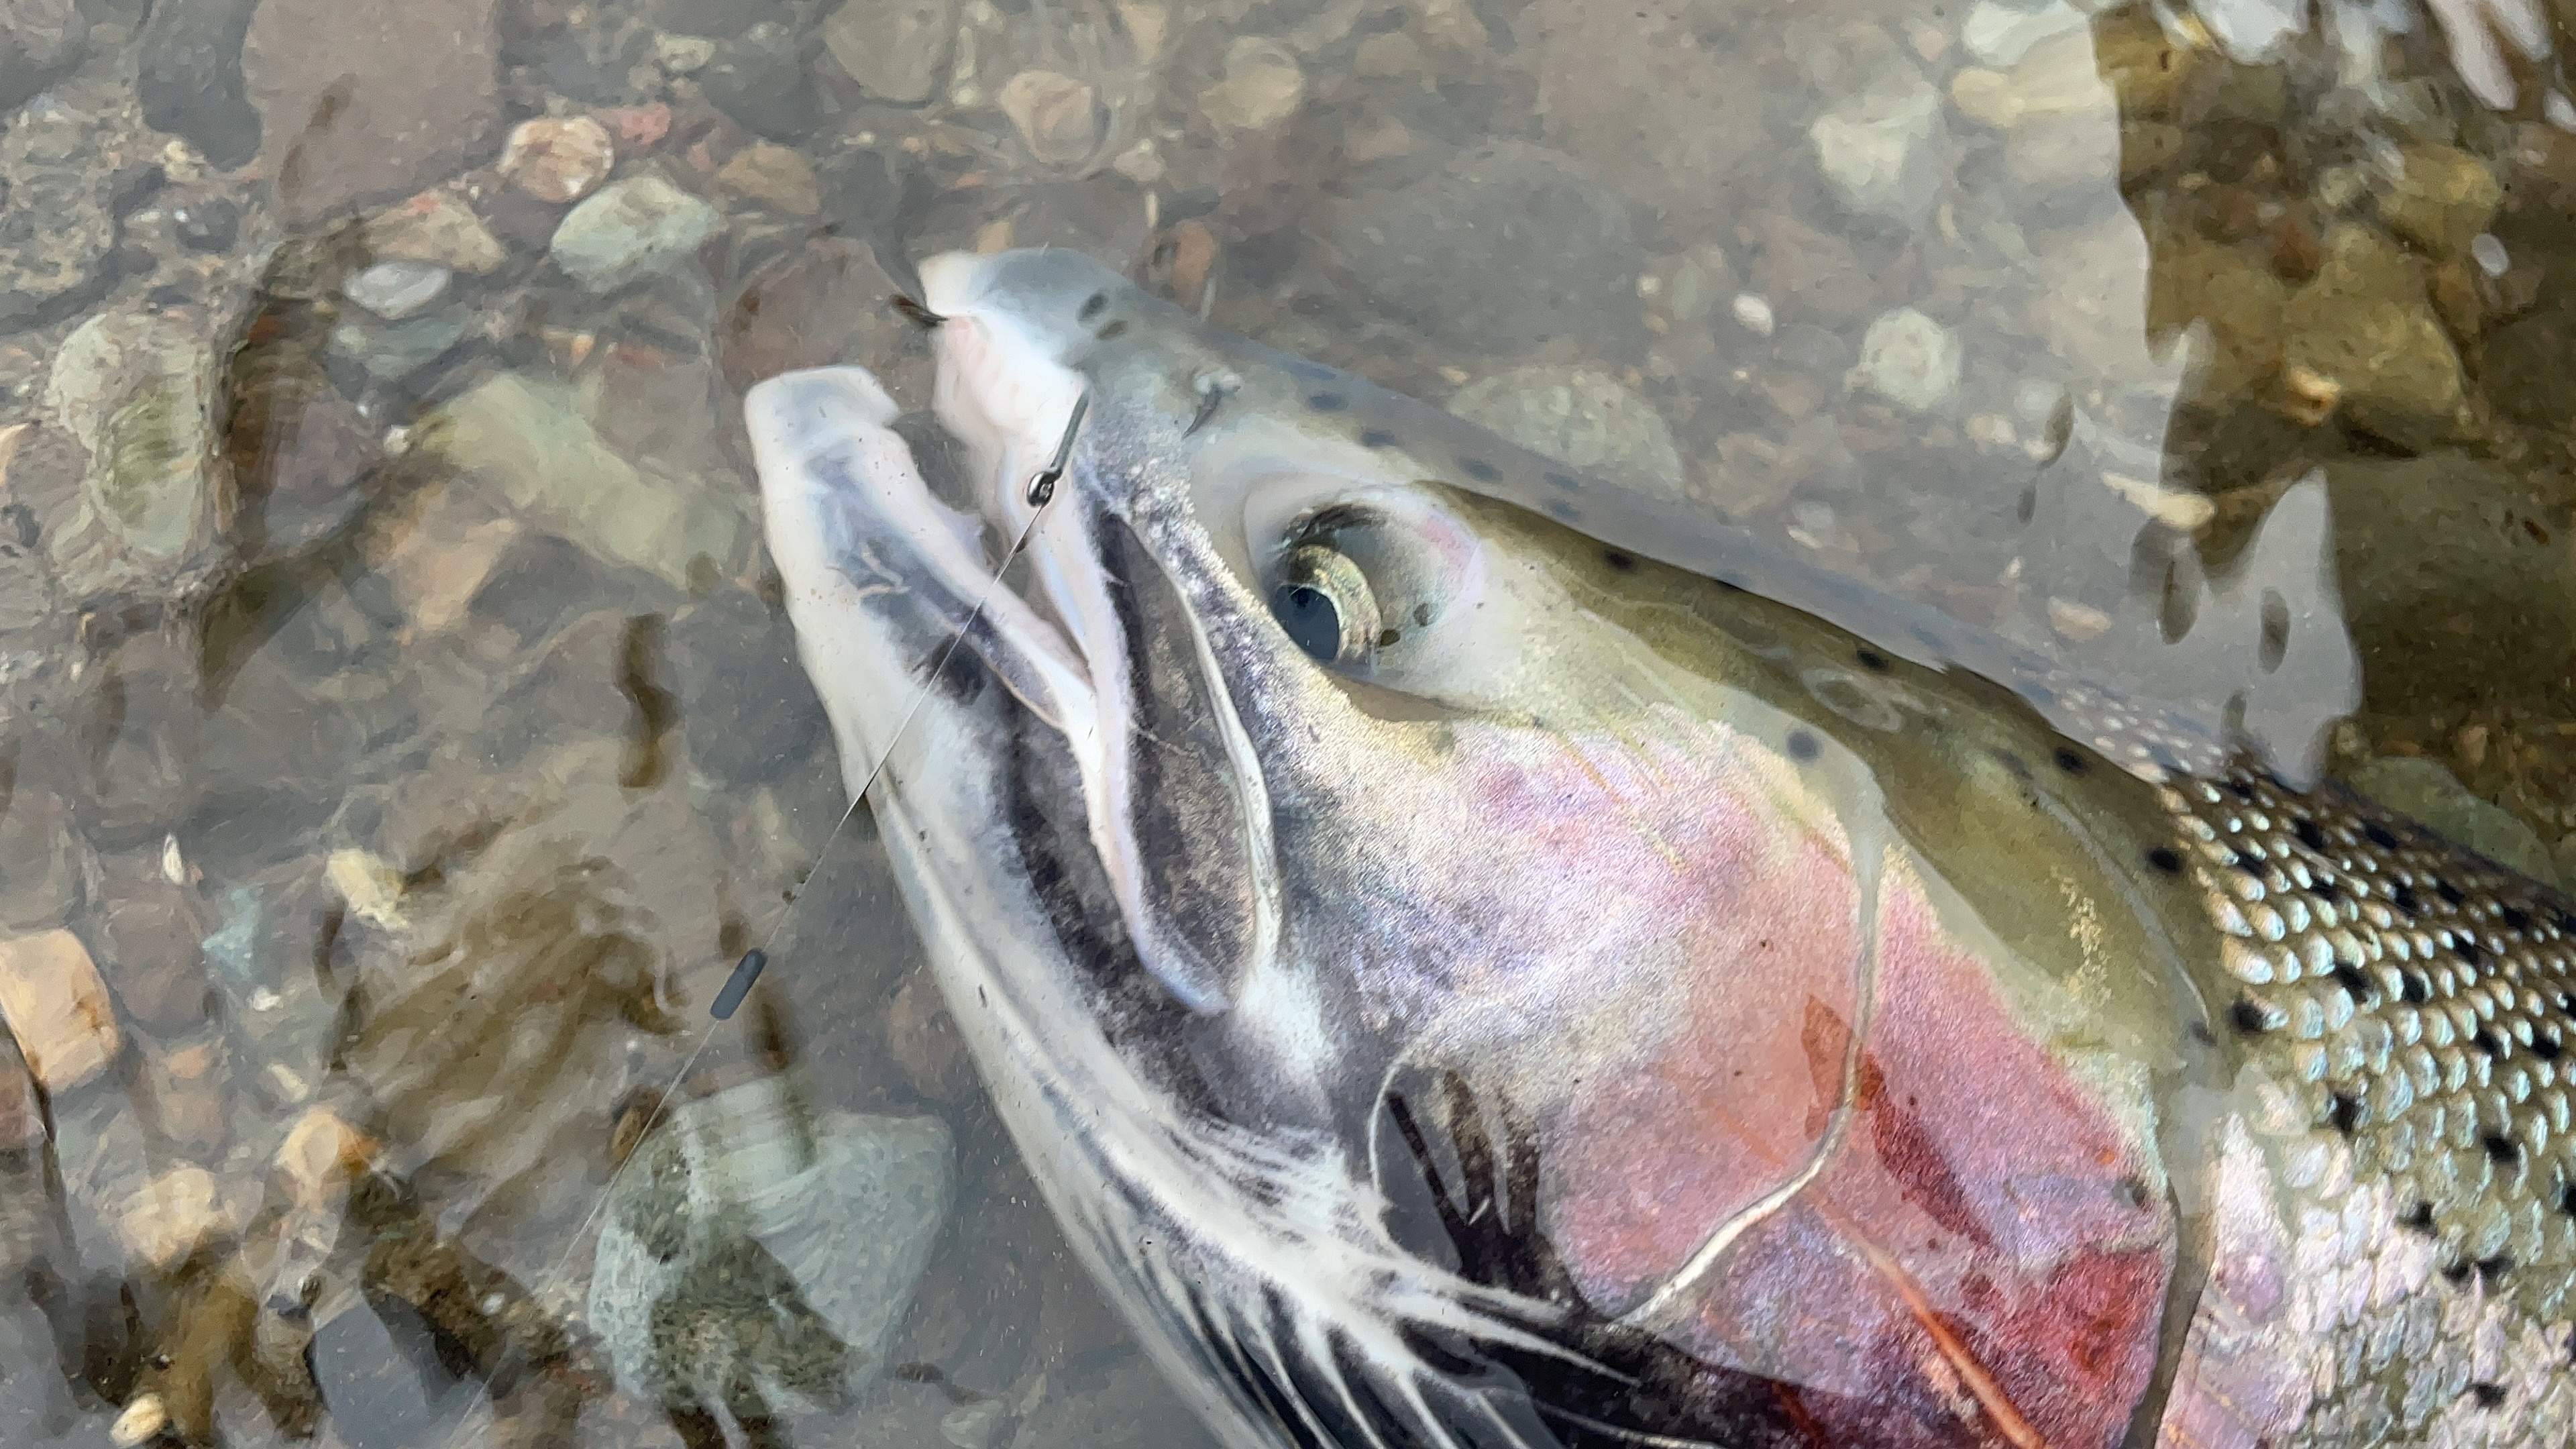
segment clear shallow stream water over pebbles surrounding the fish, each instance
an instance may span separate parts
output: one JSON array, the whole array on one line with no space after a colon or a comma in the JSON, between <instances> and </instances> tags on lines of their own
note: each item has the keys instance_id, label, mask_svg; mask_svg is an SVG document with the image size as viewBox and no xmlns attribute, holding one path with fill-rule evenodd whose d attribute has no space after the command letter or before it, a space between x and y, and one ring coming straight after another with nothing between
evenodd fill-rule
<instances>
[{"instance_id":1,"label":"clear shallow stream water over pebbles surrounding the fish","mask_svg":"<svg viewBox=\"0 0 2576 1449\"><path fill-rule=\"evenodd\" d=\"M739 392L927 402L886 297L943 248L1082 248L2074 652L2326 467L2331 766L2576 864L2576 137L2527 70L2496 111L2421 39L1994 3L353 10L0 3L10 1444L1198 1441L863 815L814 869ZM603 170L639 201L580 222ZM953 1168L853 1217L827 1140L922 1119ZM788 1178L773 1250L636 1245ZM902 1310L799 1258L850 1222L912 1225Z\"/></svg>"}]
</instances>

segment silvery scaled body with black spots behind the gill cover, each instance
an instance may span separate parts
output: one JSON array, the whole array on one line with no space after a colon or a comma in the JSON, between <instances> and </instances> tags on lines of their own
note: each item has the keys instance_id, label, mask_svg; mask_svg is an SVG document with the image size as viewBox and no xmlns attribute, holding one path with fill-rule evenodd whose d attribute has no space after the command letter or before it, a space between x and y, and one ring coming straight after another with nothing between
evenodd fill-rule
<instances>
[{"instance_id":1,"label":"silvery scaled body with black spots behind the gill cover","mask_svg":"<svg viewBox=\"0 0 2576 1449\"><path fill-rule=\"evenodd\" d=\"M2563 1444L2576 913L2331 784L2233 768L2159 799L2239 990L2226 1021L2280 1083L2257 1132L2306 1189L2300 1441Z\"/></svg>"}]
</instances>

